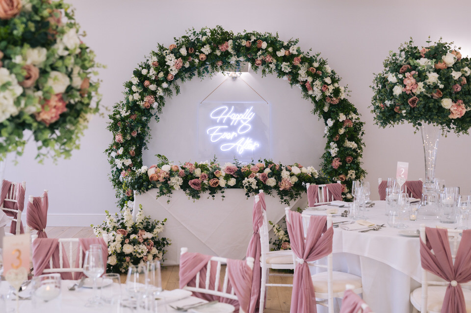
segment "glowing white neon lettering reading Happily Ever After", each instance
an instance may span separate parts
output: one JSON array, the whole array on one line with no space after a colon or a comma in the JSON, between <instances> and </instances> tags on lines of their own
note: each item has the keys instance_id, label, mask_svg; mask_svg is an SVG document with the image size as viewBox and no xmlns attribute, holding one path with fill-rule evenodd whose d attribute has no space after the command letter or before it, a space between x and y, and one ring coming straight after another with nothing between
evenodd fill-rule
<instances>
[{"instance_id":1,"label":"glowing white neon lettering reading Happily Ever After","mask_svg":"<svg viewBox=\"0 0 471 313\"><path fill-rule=\"evenodd\" d=\"M254 151L260 144L250 137L252 124L250 123L256 114L253 106L245 112L235 112L234 106L220 106L212 110L209 118L216 122L215 126L209 127L206 134L209 135L211 143L218 143L221 151L235 150L242 154L245 150Z\"/></svg>"}]
</instances>

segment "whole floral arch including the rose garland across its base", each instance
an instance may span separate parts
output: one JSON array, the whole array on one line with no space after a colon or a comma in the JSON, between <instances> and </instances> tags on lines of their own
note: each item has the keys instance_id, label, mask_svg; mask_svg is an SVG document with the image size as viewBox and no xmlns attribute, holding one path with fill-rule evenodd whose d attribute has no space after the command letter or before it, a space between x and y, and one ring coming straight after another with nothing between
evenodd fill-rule
<instances>
[{"instance_id":1,"label":"whole floral arch including the rose garland across its base","mask_svg":"<svg viewBox=\"0 0 471 313\"><path fill-rule=\"evenodd\" d=\"M214 196L217 192L223 193L224 188L228 187L245 188L247 196L262 188L267 193L278 193L282 201L286 201L304 191L303 182L326 183L338 180L344 184L343 197L351 198L351 182L365 176L361 167L364 123L357 109L345 97L347 91L339 85L340 77L319 53L310 55L309 52L301 51L296 46L297 39L284 42L278 35L255 31L234 34L221 26L200 31L190 29L186 35L174 39L175 43L168 48L157 45L157 51L151 51L145 62L133 71L131 80L124 84L125 99L116 103L113 113L109 115L111 121L108 129L113 133L113 141L106 153L111 165L111 181L121 206L133 200L132 190L145 192L152 188L159 188L161 195L181 188L194 198L199 198L202 191L208 191ZM204 78L213 72L233 71L241 62L249 62L254 72L262 71L262 76L270 73L287 79L291 86L301 89L303 98L313 102L312 113L324 120L326 125L324 137L327 143L320 173L309 168L303 169L296 163L283 166L267 160L260 161L257 164L260 172L266 168L272 169L263 171L269 177L297 175L294 182L294 179L291 180L289 188L278 188L278 185L267 186L267 179L261 180L261 173L255 174L256 168L252 167L252 171L250 166L235 169L239 175L234 176L238 176L239 180L232 185L222 182L216 184L214 180L214 184L209 183L211 179L221 179L217 175L221 166L215 161L211 164L178 167L168 164L162 157L154 169L143 166L142 150L147 148L149 140L149 121L152 118L158 121L166 97L171 97L174 91L179 94L177 81L184 82L195 76ZM200 172L209 173L209 177L202 179L198 171L195 176L195 167L201 169ZM152 176L156 170L160 174L158 180L152 178L157 177ZM245 173L247 170L248 173ZM183 179L177 178L179 172ZM254 175L250 176L253 184L247 184L249 173L252 172ZM173 183L172 177L175 178ZM189 178L201 180L203 187L195 188Z\"/></svg>"}]
</instances>

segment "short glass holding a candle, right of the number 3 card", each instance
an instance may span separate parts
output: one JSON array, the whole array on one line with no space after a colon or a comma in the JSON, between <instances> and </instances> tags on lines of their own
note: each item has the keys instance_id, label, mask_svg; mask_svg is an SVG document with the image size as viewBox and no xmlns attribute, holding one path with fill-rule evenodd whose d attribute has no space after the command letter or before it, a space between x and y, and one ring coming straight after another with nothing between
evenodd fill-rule
<instances>
[{"instance_id":1,"label":"short glass holding a candle, right of the number 3 card","mask_svg":"<svg viewBox=\"0 0 471 313\"><path fill-rule=\"evenodd\" d=\"M57 310L58 303L49 303L60 294L60 274L45 274L33 278L31 300L33 307L40 311ZM47 308L46 308L47 306ZM52 307L52 306L55 306Z\"/></svg>"}]
</instances>

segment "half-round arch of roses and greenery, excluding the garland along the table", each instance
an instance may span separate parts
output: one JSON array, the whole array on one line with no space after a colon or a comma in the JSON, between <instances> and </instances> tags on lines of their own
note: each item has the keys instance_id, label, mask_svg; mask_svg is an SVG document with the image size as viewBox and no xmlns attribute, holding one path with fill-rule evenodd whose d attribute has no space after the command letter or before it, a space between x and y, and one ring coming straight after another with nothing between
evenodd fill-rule
<instances>
[{"instance_id":1,"label":"half-round arch of roses and greenery, excluding the garland along the table","mask_svg":"<svg viewBox=\"0 0 471 313\"><path fill-rule=\"evenodd\" d=\"M249 62L255 72L262 71L262 76L275 74L286 79L291 86L300 88L302 97L313 102L312 113L318 114L326 125L327 143L321 167L329 182L340 180L349 188L351 181L364 177L365 170L361 167L364 123L346 98L346 88L339 85L340 77L327 61L319 54L301 51L297 43L297 39L282 41L270 33L234 34L217 26L200 31L190 29L185 36L175 38L169 47L157 45L157 51L151 51L125 82L125 99L116 103L109 115L112 142L106 153L111 181L121 205L133 199L133 188L140 187L138 190L143 191L151 184L143 180L141 186L132 186L133 180L123 180L122 173L131 177L143 174L142 150L147 148L149 140L149 121L159 119L165 98L173 95L171 88L178 94L178 81L234 71L241 62ZM242 187L240 184L238 181L238 187ZM166 187L159 185L159 188ZM348 188L343 196L351 198Z\"/></svg>"}]
</instances>

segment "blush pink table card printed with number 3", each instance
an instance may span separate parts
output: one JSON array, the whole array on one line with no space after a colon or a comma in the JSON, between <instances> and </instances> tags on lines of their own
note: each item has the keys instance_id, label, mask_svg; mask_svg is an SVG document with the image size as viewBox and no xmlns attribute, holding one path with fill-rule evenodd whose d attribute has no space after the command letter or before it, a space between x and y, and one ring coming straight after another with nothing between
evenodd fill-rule
<instances>
[{"instance_id":1,"label":"blush pink table card printed with number 3","mask_svg":"<svg viewBox=\"0 0 471 313\"><path fill-rule=\"evenodd\" d=\"M3 237L3 275L16 290L28 279L29 250L28 235Z\"/></svg>"}]
</instances>

